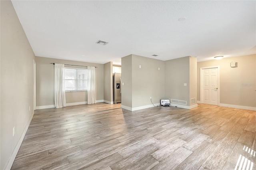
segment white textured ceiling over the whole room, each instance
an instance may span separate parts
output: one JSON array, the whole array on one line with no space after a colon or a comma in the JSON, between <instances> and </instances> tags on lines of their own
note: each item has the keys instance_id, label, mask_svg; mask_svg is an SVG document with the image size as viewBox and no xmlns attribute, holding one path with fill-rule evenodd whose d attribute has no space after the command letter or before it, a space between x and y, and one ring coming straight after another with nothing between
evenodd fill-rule
<instances>
[{"instance_id":1,"label":"white textured ceiling over the whole room","mask_svg":"<svg viewBox=\"0 0 256 170\"><path fill-rule=\"evenodd\" d=\"M12 0L36 56L121 63L256 53L256 1ZM179 18L186 17L183 22ZM96 44L98 40L109 42ZM159 55L157 57L153 54ZM84 56L83 56L84 55Z\"/></svg>"}]
</instances>

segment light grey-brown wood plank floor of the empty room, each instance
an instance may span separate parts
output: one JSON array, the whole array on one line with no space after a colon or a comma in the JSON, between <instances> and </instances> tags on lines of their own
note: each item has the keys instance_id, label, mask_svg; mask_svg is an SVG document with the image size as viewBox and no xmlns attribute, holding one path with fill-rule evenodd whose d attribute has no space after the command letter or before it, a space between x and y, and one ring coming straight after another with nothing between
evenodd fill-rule
<instances>
[{"instance_id":1,"label":"light grey-brown wood plank floor of the empty room","mask_svg":"<svg viewBox=\"0 0 256 170\"><path fill-rule=\"evenodd\" d=\"M199 104L37 110L12 170L256 169L256 111Z\"/></svg>"}]
</instances>

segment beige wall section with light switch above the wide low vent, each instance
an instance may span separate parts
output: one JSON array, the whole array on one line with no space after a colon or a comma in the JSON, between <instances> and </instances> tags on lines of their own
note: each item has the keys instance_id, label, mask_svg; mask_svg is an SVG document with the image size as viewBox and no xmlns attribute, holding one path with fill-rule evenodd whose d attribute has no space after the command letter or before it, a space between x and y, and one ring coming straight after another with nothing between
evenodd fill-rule
<instances>
[{"instance_id":1,"label":"beige wall section with light switch above the wide low vent","mask_svg":"<svg viewBox=\"0 0 256 170\"><path fill-rule=\"evenodd\" d=\"M189 71L189 56L165 61L165 98L187 101L187 105L190 105Z\"/></svg>"}]
</instances>

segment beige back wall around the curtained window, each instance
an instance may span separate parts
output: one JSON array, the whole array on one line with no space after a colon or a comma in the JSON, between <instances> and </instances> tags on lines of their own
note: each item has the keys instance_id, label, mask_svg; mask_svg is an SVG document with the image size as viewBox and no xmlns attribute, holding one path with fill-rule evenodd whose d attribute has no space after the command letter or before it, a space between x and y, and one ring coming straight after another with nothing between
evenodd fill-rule
<instances>
[{"instance_id":1,"label":"beige back wall around the curtained window","mask_svg":"<svg viewBox=\"0 0 256 170\"><path fill-rule=\"evenodd\" d=\"M73 65L96 66L96 100L104 99L104 75L103 64L88 63L82 61L70 61L64 59L53 59L36 57L36 106L54 105L54 65L50 63L62 63ZM67 92L66 103L87 101L87 93Z\"/></svg>"}]
</instances>

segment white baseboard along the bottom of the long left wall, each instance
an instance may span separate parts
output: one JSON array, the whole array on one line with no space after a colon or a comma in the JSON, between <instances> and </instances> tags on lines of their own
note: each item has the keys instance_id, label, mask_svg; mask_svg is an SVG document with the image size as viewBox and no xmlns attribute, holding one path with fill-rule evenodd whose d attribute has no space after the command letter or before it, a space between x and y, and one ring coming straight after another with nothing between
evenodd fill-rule
<instances>
[{"instance_id":1,"label":"white baseboard along the bottom of the long left wall","mask_svg":"<svg viewBox=\"0 0 256 170\"><path fill-rule=\"evenodd\" d=\"M34 111L33 111L33 113L30 115L30 118L29 118L29 120L28 120L28 123L27 123L26 127L24 128L24 130L23 130L23 132L22 132L22 134L21 134L21 136L20 136L20 139L18 140L18 143L16 144L14 150L12 151L12 155L10 156L10 159L8 160L8 163L7 163L6 167L4 168L5 170L10 170L10 169L12 168L12 164L13 164L13 162L14 162L14 159L16 158L16 156L17 156L17 154L18 154L18 151L19 151L19 149L20 149L20 146L21 146L21 144L22 144L22 141L23 141L23 139L24 139L24 137L25 137L25 134L26 134L26 132L27 132L27 130L28 130L28 127L29 127L29 125L30 125L30 122L31 122L33 116L34 116Z\"/></svg>"}]
</instances>

